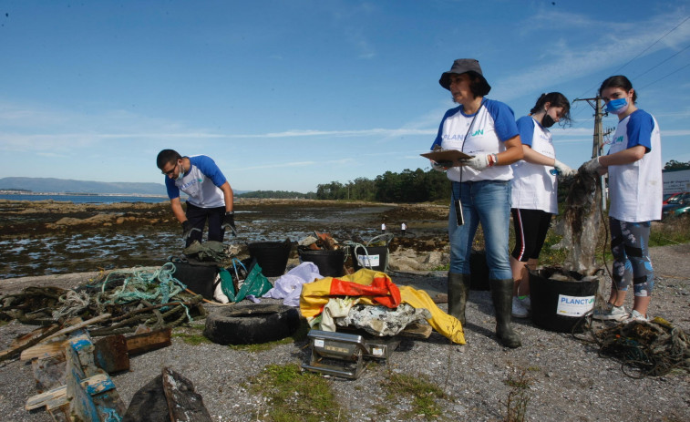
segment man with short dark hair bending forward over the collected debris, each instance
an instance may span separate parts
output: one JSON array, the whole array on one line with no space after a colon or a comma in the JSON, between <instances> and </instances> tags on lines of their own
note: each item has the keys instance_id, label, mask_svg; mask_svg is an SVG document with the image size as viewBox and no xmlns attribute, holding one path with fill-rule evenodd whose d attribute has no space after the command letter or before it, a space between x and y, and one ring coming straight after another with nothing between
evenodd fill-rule
<instances>
[{"instance_id":1,"label":"man with short dark hair bending forward over the collected debris","mask_svg":"<svg viewBox=\"0 0 690 422\"><path fill-rule=\"evenodd\" d=\"M163 149L156 164L166 175L172 213L182 224L182 237L187 246L194 241L201 242L206 221L209 221L209 241L222 242L228 228L237 235L232 188L211 157L182 157L173 149ZM182 210L180 190L189 195L186 212Z\"/></svg>"}]
</instances>

